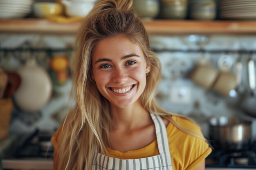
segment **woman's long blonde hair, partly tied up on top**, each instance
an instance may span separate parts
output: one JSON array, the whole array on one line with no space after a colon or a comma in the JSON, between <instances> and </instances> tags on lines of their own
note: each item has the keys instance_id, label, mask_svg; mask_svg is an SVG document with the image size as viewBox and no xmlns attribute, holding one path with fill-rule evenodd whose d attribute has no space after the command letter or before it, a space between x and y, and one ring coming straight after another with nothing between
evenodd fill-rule
<instances>
[{"instance_id":1,"label":"woman's long blonde hair, partly tied up on top","mask_svg":"<svg viewBox=\"0 0 256 170\"><path fill-rule=\"evenodd\" d=\"M144 52L150 72L140 100L148 112L179 126L155 100L155 90L161 77L161 64L150 49L147 32L132 9L132 0L101 0L82 22L76 37L73 66L73 91L76 104L59 130L58 170L90 170L95 152L106 154L111 129L111 113L107 99L91 79L91 58L96 44L104 38L125 35ZM177 115L188 119L182 115Z\"/></svg>"}]
</instances>

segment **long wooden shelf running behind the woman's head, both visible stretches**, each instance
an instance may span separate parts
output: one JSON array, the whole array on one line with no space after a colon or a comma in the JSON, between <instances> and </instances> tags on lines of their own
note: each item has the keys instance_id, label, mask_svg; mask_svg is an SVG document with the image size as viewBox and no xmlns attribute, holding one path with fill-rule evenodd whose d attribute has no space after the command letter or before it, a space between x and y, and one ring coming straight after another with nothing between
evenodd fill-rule
<instances>
[{"instance_id":1,"label":"long wooden shelf running behind the woman's head, both visible stretches","mask_svg":"<svg viewBox=\"0 0 256 170\"><path fill-rule=\"evenodd\" d=\"M149 34L256 34L256 21L143 21ZM0 20L0 33L75 34L80 22L56 23L46 19Z\"/></svg>"}]
</instances>

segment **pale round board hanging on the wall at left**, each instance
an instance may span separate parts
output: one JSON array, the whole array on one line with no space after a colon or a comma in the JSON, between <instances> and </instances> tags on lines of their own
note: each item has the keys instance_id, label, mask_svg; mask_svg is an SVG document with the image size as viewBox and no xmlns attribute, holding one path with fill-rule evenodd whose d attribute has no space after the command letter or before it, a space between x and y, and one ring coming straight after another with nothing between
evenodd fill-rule
<instances>
[{"instance_id":1,"label":"pale round board hanging on the wall at left","mask_svg":"<svg viewBox=\"0 0 256 170\"><path fill-rule=\"evenodd\" d=\"M52 81L44 68L36 64L35 59L18 70L22 82L14 99L25 111L35 112L43 108L52 95Z\"/></svg>"}]
</instances>

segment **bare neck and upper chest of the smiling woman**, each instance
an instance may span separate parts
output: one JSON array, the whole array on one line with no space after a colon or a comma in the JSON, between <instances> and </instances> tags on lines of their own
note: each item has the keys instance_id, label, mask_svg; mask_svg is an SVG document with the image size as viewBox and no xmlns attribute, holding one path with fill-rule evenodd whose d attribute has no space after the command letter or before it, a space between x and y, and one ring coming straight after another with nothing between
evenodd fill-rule
<instances>
[{"instance_id":1,"label":"bare neck and upper chest of the smiling woman","mask_svg":"<svg viewBox=\"0 0 256 170\"><path fill-rule=\"evenodd\" d=\"M148 111L139 102L126 108L111 105L111 113L113 116L112 130L131 131L152 124Z\"/></svg>"}]
</instances>

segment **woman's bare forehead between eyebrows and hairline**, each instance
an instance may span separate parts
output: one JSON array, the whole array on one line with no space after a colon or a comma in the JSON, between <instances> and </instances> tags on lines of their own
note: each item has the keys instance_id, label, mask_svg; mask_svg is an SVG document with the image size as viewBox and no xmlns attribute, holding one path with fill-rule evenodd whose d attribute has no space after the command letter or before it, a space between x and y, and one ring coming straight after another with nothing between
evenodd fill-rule
<instances>
[{"instance_id":1,"label":"woman's bare forehead between eyebrows and hairline","mask_svg":"<svg viewBox=\"0 0 256 170\"><path fill-rule=\"evenodd\" d=\"M118 35L100 40L92 53L92 61L99 58L117 58L132 53L144 57L139 45L133 43L124 35Z\"/></svg>"}]
</instances>

